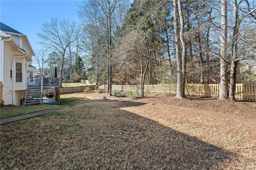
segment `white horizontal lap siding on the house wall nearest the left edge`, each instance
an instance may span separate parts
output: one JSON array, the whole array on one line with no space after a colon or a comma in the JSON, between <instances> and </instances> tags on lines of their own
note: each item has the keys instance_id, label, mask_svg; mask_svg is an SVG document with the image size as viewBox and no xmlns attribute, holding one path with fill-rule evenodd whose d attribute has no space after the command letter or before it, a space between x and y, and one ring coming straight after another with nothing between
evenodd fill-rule
<instances>
[{"instance_id":1,"label":"white horizontal lap siding on the house wall nearest the left edge","mask_svg":"<svg viewBox=\"0 0 256 170\"><path fill-rule=\"evenodd\" d=\"M12 103L12 93L13 93L13 77L10 78L10 62L13 61L12 58L12 46L9 42L4 42L4 101L5 104L13 104ZM13 68L12 68L13 69ZM12 71L12 73L14 73Z\"/></svg>"}]
</instances>

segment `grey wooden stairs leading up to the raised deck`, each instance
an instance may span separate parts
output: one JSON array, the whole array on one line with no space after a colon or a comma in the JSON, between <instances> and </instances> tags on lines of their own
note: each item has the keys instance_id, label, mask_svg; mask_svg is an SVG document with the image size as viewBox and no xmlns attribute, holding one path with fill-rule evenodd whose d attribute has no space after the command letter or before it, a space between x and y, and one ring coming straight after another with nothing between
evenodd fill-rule
<instances>
[{"instance_id":1,"label":"grey wooden stairs leading up to the raised deck","mask_svg":"<svg viewBox=\"0 0 256 170\"><path fill-rule=\"evenodd\" d=\"M28 87L26 97L24 100L24 105L35 105L42 104L42 91L40 86Z\"/></svg>"}]
</instances>

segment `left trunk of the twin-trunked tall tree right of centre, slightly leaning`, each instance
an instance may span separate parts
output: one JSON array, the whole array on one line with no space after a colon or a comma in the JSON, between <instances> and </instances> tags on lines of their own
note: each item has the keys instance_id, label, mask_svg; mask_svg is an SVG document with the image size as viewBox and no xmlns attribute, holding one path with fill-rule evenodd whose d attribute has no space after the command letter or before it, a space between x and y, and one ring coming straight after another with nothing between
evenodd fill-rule
<instances>
[{"instance_id":1,"label":"left trunk of the twin-trunked tall tree right of centre, slightly leaning","mask_svg":"<svg viewBox=\"0 0 256 170\"><path fill-rule=\"evenodd\" d=\"M173 25L175 34L175 50L176 50L176 61L177 61L177 94L176 98L182 98L182 58L180 55L180 35L178 27L178 2L177 0L172 1L173 4Z\"/></svg>"}]
</instances>

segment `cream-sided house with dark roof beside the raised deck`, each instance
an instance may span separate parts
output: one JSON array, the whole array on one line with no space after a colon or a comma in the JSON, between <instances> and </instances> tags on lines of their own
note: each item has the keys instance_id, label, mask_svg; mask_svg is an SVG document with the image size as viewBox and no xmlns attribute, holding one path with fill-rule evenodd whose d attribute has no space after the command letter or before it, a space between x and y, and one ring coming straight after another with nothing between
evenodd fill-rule
<instances>
[{"instance_id":1,"label":"cream-sided house with dark roof beside the raised deck","mask_svg":"<svg viewBox=\"0 0 256 170\"><path fill-rule=\"evenodd\" d=\"M26 96L28 77L35 77L34 51L26 35L0 22L0 81L2 104L20 105Z\"/></svg>"}]
</instances>

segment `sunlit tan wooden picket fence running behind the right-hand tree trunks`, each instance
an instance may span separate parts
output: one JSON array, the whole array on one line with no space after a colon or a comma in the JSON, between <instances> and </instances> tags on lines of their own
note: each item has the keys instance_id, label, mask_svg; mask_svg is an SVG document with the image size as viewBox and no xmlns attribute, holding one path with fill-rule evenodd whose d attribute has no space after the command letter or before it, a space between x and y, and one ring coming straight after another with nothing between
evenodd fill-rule
<instances>
[{"instance_id":1,"label":"sunlit tan wooden picket fence running behind the right-hand tree trunks","mask_svg":"<svg viewBox=\"0 0 256 170\"><path fill-rule=\"evenodd\" d=\"M99 88L106 89L106 85ZM144 92L176 94L177 85L144 85ZM112 85L112 90L140 91L140 85ZM219 97L220 84L186 84L185 94L202 97ZM256 84L236 84L236 100L256 101Z\"/></svg>"}]
</instances>

